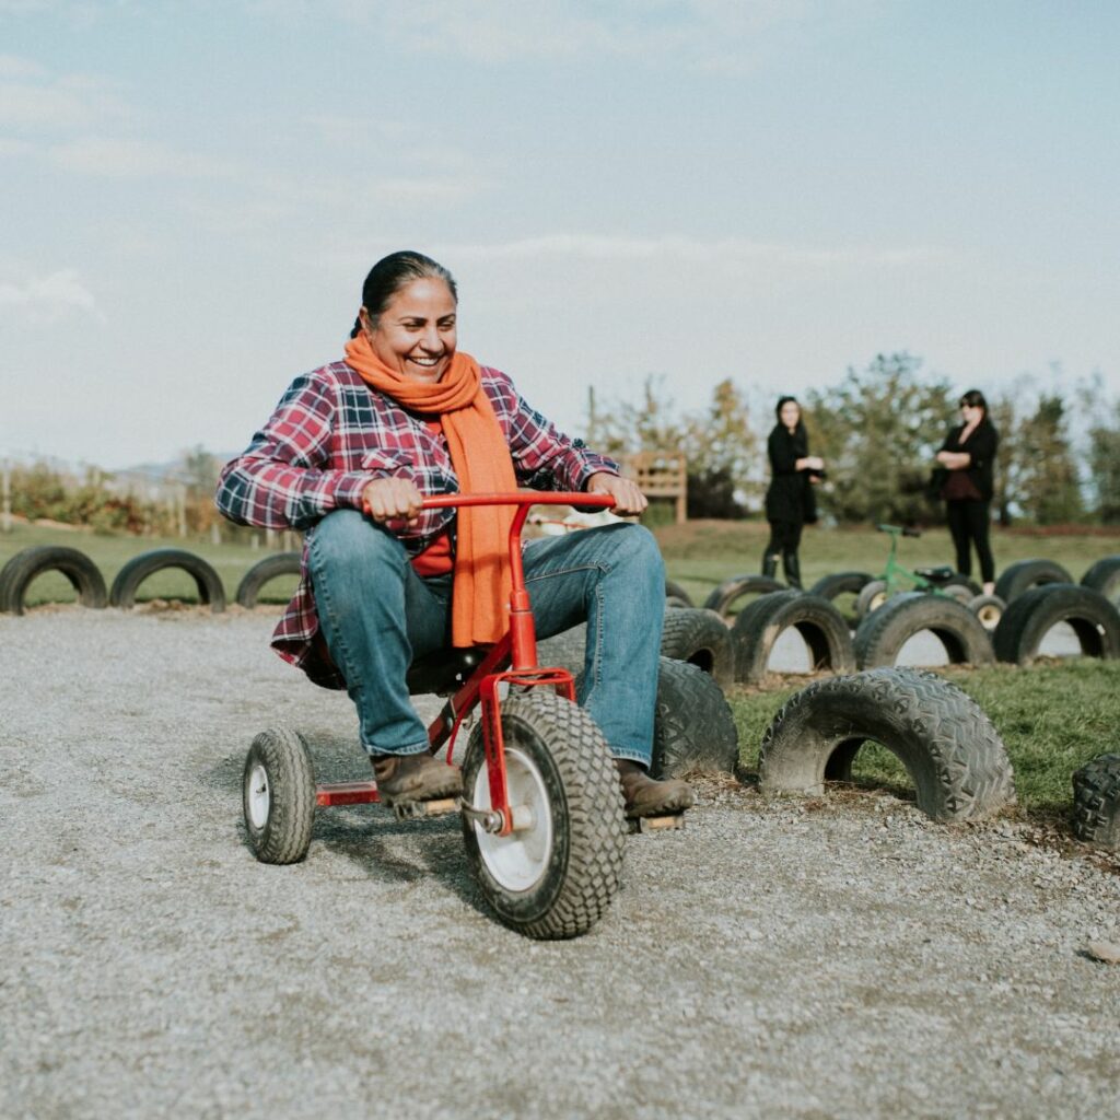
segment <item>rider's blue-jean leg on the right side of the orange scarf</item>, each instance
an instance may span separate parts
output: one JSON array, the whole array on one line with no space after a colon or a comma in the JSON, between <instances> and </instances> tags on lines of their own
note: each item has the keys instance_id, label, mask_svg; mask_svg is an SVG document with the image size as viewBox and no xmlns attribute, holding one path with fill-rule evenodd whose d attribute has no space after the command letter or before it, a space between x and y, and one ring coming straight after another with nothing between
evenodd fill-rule
<instances>
[{"instance_id":1,"label":"rider's blue-jean leg on the right side of the orange scarf","mask_svg":"<svg viewBox=\"0 0 1120 1120\"><path fill-rule=\"evenodd\" d=\"M579 703L616 758L650 765L665 566L652 534L614 524L530 541L525 586L539 637L587 619Z\"/></svg>"}]
</instances>

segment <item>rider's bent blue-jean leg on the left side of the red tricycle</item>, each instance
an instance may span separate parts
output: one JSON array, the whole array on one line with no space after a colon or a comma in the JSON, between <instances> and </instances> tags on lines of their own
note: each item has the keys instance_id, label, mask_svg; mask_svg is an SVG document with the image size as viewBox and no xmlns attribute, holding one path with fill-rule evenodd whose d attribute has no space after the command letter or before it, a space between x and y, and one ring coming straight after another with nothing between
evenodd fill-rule
<instances>
[{"instance_id":1,"label":"rider's bent blue-jean leg on the left side of the red tricycle","mask_svg":"<svg viewBox=\"0 0 1120 1120\"><path fill-rule=\"evenodd\" d=\"M421 579L404 545L356 510L336 510L311 530L308 567L362 745L371 754L427 750L405 674L413 656L447 644L450 579Z\"/></svg>"}]
</instances>

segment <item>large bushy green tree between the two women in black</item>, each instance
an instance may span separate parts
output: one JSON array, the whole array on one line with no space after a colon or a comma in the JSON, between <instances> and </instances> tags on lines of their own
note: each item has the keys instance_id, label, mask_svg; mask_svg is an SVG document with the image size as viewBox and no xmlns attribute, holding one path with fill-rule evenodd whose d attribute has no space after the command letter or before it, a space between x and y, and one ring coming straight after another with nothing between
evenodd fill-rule
<instances>
[{"instance_id":1,"label":"large bushy green tree between the two women in black","mask_svg":"<svg viewBox=\"0 0 1120 1120\"><path fill-rule=\"evenodd\" d=\"M878 355L840 385L805 394L805 426L828 483L821 507L840 521L913 524L940 516L927 495L933 456L955 414L943 379L918 377L921 358Z\"/></svg>"}]
</instances>

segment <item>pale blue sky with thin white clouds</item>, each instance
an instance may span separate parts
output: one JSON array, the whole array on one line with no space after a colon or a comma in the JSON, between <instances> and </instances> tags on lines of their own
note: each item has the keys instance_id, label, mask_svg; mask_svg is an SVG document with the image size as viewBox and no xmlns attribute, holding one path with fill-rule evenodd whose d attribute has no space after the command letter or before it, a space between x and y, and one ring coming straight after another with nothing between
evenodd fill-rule
<instances>
[{"instance_id":1,"label":"pale blue sky with thin white clouds","mask_svg":"<svg viewBox=\"0 0 1120 1120\"><path fill-rule=\"evenodd\" d=\"M895 349L1120 392L1118 32L1111 0L0 0L0 454L244 446L396 249L573 432L589 385L693 410Z\"/></svg>"}]
</instances>

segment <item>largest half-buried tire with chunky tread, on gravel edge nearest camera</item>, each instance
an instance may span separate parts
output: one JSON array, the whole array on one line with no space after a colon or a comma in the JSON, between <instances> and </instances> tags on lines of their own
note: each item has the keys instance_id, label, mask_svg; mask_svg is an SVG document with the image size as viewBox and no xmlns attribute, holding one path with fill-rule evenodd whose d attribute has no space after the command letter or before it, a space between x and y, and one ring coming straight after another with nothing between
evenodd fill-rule
<instances>
[{"instance_id":1,"label":"largest half-buried tire with chunky tread, on gravel edge nearest camera","mask_svg":"<svg viewBox=\"0 0 1120 1120\"><path fill-rule=\"evenodd\" d=\"M825 781L850 781L868 740L902 762L918 809L935 821L987 816L1015 800L1007 752L980 707L912 669L834 676L791 697L763 737L762 790L819 794Z\"/></svg>"}]
</instances>

